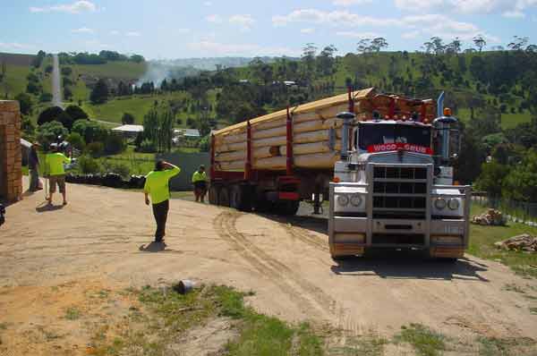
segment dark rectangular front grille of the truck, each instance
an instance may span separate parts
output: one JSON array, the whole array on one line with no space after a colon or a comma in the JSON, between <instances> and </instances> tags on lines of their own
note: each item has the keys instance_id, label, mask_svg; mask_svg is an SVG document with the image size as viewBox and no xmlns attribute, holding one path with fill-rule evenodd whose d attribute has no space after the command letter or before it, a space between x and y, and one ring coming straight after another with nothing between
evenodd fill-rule
<instances>
[{"instance_id":1,"label":"dark rectangular front grille of the truck","mask_svg":"<svg viewBox=\"0 0 537 356\"><path fill-rule=\"evenodd\" d=\"M427 197L427 167L374 167L373 217L425 218Z\"/></svg>"}]
</instances>

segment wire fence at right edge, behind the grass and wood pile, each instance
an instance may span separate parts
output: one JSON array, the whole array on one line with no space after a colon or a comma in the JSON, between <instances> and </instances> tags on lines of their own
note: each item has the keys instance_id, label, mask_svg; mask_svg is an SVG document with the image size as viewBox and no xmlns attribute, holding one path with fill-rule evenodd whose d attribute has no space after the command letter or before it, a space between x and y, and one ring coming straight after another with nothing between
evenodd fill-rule
<instances>
[{"instance_id":1,"label":"wire fence at right edge, behind the grass and wood pile","mask_svg":"<svg viewBox=\"0 0 537 356\"><path fill-rule=\"evenodd\" d=\"M472 201L484 208L498 209L508 220L537 226L537 203L494 198L486 195L474 195Z\"/></svg>"}]
</instances>

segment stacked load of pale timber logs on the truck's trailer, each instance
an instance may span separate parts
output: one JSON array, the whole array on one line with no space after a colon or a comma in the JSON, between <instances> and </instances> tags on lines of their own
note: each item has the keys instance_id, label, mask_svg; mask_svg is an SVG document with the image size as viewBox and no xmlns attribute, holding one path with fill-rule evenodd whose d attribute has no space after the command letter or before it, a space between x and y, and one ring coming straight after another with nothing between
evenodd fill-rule
<instances>
[{"instance_id":1,"label":"stacked load of pale timber logs on the truck's trailer","mask_svg":"<svg viewBox=\"0 0 537 356\"><path fill-rule=\"evenodd\" d=\"M414 108L394 107L388 96L376 95L375 89L350 94L356 120L371 119L371 113L388 114L390 110L414 112ZM391 101L390 101L391 100ZM416 101L422 106L422 101ZM390 106L391 105L391 106ZM408 106L408 104L405 104ZM297 168L332 169L341 149L343 122L338 113L349 111L348 94L294 106L289 109L293 126L293 165ZM433 114L432 102L426 107ZM251 131L251 167L259 170L285 170L287 154L287 110L260 116L249 121ZM248 123L237 123L214 132L215 169L243 171L247 159Z\"/></svg>"}]
</instances>

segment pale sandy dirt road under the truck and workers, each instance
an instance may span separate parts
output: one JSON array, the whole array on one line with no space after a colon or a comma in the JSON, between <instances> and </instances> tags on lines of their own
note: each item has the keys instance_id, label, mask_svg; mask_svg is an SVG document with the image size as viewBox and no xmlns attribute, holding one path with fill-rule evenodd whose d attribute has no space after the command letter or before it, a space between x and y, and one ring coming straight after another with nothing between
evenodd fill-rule
<instances>
[{"instance_id":1,"label":"pale sandy dirt road under the truck and workers","mask_svg":"<svg viewBox=\"0 0 537 356\"><path fill-rule=\"evenodd\" d=\"M149 243L153 220L140 193L81 185L68 185L68 193L64 208L45 207L43 193L7 208L0 321L19 330L51 302L38 297L39 288L119 290L190 278L255 291L250 301L261 312L329 322L357 335L393 335L422 323L463 338L537 336L531 300L506 290L509 284L537 291L537 284L496 262L394 255L337 264L323 221L284 221L179 199L171 202L167 246L160 250Z\"/></svg>"}]
</instances>

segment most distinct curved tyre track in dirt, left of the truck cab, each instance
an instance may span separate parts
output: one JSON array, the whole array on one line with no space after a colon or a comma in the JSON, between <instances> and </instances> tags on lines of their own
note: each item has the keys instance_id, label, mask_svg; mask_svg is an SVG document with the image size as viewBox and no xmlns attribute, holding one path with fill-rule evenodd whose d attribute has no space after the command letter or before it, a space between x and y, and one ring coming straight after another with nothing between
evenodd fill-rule
<instances>
[{"instance_id":1,"label":"most distinct curved tyre track in dirt, left of the truck cab","mask_svg":"<svg viewBox=\"0 0 537 356\"><path fill-rule=\"evenodd\" d=\"M291 268L269 256L267 252L248 241L243 233L237 231L235 224L241 215L230 211L220 213L213 221L215 230L226 242L234 245L237 252L251 264L251 267L258 270L261 275L267 276L292 300L296 301L297 306L303 309L306 306L308 311L311 311L308 308L311 306L318 309L321 314L333 316L336 301L316 285L305 281ZM305 298L305 296L310 297L310 299Z\"/></svg>"}]
</instances>

